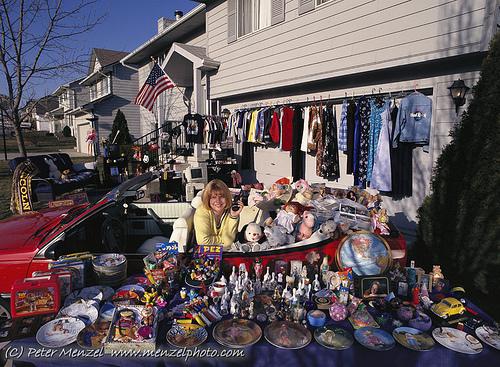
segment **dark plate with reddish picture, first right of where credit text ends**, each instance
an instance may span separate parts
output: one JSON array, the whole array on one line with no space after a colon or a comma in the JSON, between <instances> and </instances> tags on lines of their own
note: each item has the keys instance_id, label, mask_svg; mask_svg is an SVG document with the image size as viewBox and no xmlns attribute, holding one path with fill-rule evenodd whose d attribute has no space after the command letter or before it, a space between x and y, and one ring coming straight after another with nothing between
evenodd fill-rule
<instances>
[{"instance_id":1,"label":"dark plate with reddish picture, first right of where credit text ends","mask_svg":"<svg viewBox=\"0 0 500 367\"><path fill-rule=\"evenodd\" d=\"M311 340L311 332L300 324L291 321L274 321L264 329L264 337L275 347L300 349Z\"/></svg>"}]
</instances>

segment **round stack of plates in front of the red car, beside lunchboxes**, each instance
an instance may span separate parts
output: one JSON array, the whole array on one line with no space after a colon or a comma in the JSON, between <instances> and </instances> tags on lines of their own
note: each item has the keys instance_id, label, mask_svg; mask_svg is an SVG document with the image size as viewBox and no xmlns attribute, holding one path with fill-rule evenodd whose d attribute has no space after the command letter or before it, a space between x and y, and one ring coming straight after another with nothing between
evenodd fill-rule
<instances>
[{"instance_id":1,"label":"round stack of plates in front of the red car, beside lunchboxes","mask_svg":"<svg viewBox=\"0 0 500 367\"><path fill-rule=\"evenodd\" d=\"M93 261L97 283L118 287L127 278L127 259L121 254L104 254Z\"/></svg>"}]
</instances>

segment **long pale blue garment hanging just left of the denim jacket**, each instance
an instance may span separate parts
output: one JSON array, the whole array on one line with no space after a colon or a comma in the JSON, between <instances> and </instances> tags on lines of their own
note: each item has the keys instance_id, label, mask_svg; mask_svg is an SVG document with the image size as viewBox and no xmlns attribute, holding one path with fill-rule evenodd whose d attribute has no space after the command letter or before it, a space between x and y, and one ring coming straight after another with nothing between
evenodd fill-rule
<instances>
[{"instance_id":1,"label":"long pale blue garment hanging just left of the denim jacket","mask_svg":"<svg viewBox=\"0 0 500 367\"><path fill-rule=\"evenodd\" d=\"M390 113L390 101L384 104L381 113L381 128L375 150L373 170L371 174L370 187L380 191L392 190L391 174L391 136L392 120Z\"/></svg>"}]
</instances>

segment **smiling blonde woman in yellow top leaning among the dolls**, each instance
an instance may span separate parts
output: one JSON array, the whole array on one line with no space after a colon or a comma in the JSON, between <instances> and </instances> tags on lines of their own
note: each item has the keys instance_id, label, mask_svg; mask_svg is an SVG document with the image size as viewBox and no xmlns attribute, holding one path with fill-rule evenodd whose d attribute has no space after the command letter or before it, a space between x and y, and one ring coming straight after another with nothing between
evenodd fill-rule
<instances>
[{"instance_id":1,"label":"smiling blonde woman in yellow top leaning among the dolls","mask_svg":"<svg viewBox=\"0 0 500 367\"><path fill-rule=\"evenodd\" d=\"M238 232L243 203L238 201L231 206L231 192L218 179L207 184L201 200L202 204L194 213L196 242L200 245L222 244L224 251L229 250Z\"/></svg>"}]
</instances>

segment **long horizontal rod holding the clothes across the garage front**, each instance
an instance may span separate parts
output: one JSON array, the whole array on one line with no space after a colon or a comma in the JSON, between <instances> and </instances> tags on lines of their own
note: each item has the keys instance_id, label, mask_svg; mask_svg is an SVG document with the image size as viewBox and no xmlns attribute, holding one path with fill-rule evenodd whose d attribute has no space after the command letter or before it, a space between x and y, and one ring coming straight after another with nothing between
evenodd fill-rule
<instances>
[{"instance_id":1,"label":"long horizontal rod holding the clothes across the garage front","mask_svg":"<svg viewBox=\"0 0 500 367\"><path fill-rule=\"evenodd\" d=\"M351 99L358 99L361 97L366 97L366 98L376 98L376 97L387 97L387 98L401 98L403 96L409 95L414 92L420 92L423 95L430 96L432 95L433 88L414 88L414 89L404 89L401 91L396 91L395 93L392 92L381 92L382 88L378 88L378 93L366 93L366 94L357 94L357 95L346 95L344 97L335 97L335 98L326 98L322 99L321 97L318 99L314 97L312 100L308 97L306 101L295 101L293 102L292 99L284 99L283 102L285 103L279 103L280 100L278 99L276 102L273 104L265 104L264 102L258 102L250 105L243 104L239 108L236 108L235 110L237 111L242 111L242 110L252 110L255 108L264 108L264 107L279 107L279 106L290 106L290 107L307 107L307 106L314 106L314 105L319 105L319 104L341 104L344 100L351 100ZM373 90L376 90L376 88L373 88ZM372 91L373 91L372 90Z\"/></svg>"}]
</instances>

